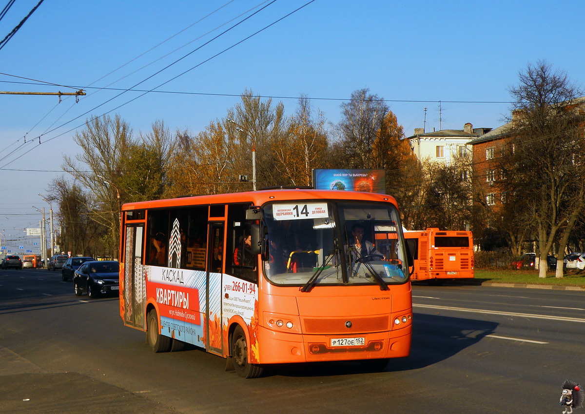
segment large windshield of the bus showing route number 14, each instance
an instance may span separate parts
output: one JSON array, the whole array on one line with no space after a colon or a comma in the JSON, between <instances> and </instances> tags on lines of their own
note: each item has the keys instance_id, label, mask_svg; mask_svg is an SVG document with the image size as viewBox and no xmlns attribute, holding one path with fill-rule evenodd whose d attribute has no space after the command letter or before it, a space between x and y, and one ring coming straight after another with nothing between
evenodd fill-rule
<instances>
[{"instance_id":1,"label":"large windshield of the bus showing route number 14","mask_svg":"<svg viewBox=\"0 0 585 414\"><path fill-rule=\"evenodd\" d=\"M273 284L387 289L408 280L398 212L390 203L274 202L264 206L264 225L264 274Z\"/></svg>"}]
</instances>

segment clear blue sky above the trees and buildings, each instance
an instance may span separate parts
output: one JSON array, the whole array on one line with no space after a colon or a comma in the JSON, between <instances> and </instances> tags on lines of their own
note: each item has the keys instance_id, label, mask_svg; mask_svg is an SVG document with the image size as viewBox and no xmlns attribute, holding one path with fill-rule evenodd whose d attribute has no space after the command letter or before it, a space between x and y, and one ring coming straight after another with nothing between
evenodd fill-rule
<instances>
[{"instance_id":1,"label":"clear blue sky above the trees and buildings","mask_svg":"<svg viewBox=\"0 0 585 414\"><path fill-rule=\"evenodd\" d=\"M58 104L56 96L0 95L0 232L11 234L8 244L32 248L34 240L23 237L40 220L32 206L49 209L37 194L63 175L63 155L77 153L75 128L90 116L119 113L135 133L157 119L171 131L198 132L249 89L290 97L273 99L288 115L305 94L336 123L342 99L369 88L389 100L408 136L423 126L425 107L427 130L500 126L510 105L486 102L510 101L508 87L527 63L546 59L579 84L585 80L581 1L315 0L234 46L308 1L44 0L0 50L0 73L13 75L0 75L0 91L75 90L18 76L84 88L87 96ZM16 0L0 20L0 40L37 3ZM99 89L142 81L137 89L168 82L159 90L189 93L151 92L129 102L139 93L114 98L121 92Z\"/></svg>"}]
</instances>

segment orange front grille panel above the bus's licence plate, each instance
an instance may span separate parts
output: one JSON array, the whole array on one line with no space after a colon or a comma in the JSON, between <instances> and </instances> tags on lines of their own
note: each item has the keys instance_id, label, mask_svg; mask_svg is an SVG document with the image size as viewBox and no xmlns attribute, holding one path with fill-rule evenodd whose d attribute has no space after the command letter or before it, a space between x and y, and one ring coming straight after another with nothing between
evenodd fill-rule
<instances>
[{"instance_id":1,"label":"orange front grille panel above the bus's licence plate","mask_svg":"<svg viewBox=\"0 0 585 414\"><path fill-rule=\"evenodd\" d=\"M345 323L349 321L352 327ZM372 316L367 318L305 318L302 320L304 333L311 334L346 334L362 332L383 332L388 330L388 316Z\"/></svg>"}]
</instances>

